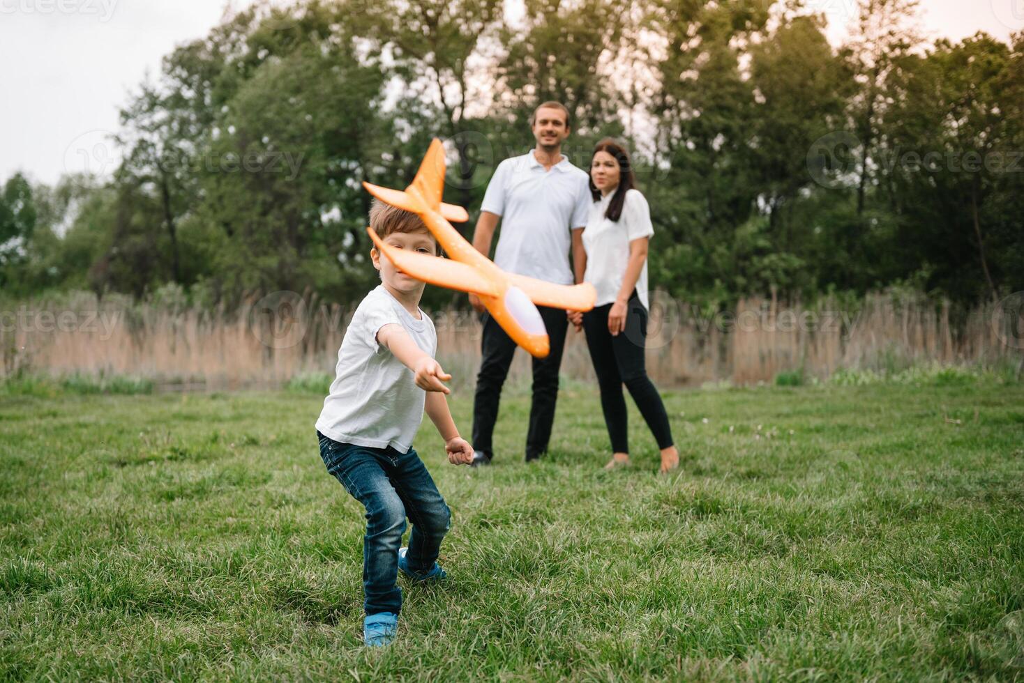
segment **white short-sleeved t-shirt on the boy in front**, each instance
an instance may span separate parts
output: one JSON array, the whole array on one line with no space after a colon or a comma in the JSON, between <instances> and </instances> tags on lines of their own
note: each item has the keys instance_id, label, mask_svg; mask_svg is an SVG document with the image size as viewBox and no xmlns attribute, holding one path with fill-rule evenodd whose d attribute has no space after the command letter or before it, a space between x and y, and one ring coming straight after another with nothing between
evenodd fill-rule
<instances>
[{"instance_id":1,"label":"white short-sleeved t-shirt on the boy in front","mask_svg":"<svg viewBox=\"0 0 1024 683\"><path fill-rule=\"evenodd\" d=\"M423 421L426 392L413 371L377 343L388 323L401 325L416 346L433 358L437 352L434 323L423 311L417 320L384 285L367 294L345 330L331 392L316 429L337 442L386 448L401 453L413 447Z\"/></svg>"}]
</instances>

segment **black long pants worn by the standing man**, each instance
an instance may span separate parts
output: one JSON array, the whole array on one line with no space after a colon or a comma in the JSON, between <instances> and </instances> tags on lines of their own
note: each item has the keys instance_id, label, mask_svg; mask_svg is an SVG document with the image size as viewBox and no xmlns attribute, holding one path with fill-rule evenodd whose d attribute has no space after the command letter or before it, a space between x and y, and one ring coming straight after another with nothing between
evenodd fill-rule
<instances>
[{"instance_id":1,"label":"black long pants worn by the standing man","mask_svg":"<svg viewBox=\"0 0 1024 683\"><path fill-rule=\"evenodd\" d=\"M555 421L558 400L558 369L562 364L568 320L565 311L538 306L544 326L548 328L551 352L547 358L535 358L534 397L529 407L529 430L526 432L526 459L532 460L548 450L551 426ZM508 376L516 344L495 322L483 314L483 360L476 375L476 396L473 399L473 449L494 456L492 438L498 420L498 405L502 385Z\"/></svg>"}]
</instances>

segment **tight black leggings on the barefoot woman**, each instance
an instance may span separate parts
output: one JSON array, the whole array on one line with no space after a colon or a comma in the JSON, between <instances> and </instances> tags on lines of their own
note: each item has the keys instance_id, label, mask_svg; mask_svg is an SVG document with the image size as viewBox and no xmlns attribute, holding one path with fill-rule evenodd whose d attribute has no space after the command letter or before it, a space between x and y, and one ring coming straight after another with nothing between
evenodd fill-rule
<instances>
[{"instance_id":1,"label":"tight black leggings on the barefoot woman","mask_svg":"<svg viewBox=\"0 0 1024 683\"><path fill-rule=\"evenodd\" d=\"M597 372L601 389L601 409L611 438L614 453L629 453L627 435L626 399L623 383L630 390L640 414L650 427L659 449L673 445L669 416L657 390L647 376L644 367L644 348L647 342L647 309L636 292L626 305L626 330L615 336L608 331L608 311L611 304L598 306L583 316L587 347Z\"/></svg>"}]
</instances>

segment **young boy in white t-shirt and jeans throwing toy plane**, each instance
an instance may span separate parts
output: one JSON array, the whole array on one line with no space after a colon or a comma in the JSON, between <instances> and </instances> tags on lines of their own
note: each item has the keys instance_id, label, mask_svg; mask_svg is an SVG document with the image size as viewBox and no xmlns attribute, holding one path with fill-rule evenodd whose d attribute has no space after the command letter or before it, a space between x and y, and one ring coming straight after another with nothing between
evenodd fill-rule
<instances>
[{"instance_id":1,"label":"young boy in white t-shirt and jeans throwing toy plane","mask_svg":"<svg viewBox=\"0 0 1024 683\"><path fill-rule=\"evenodd\" d=\"M416 214L375 200L370 225L391 246L438 251ZM398 570L416 582L445 576L436 560L451 512L413 450L424 408L444 440L449 462L469 464L473 449L449 412L450 390L441 382L452 375L433 358L437 334L419 308L424 283L376 248L370 257L381 284L362 300L345 331L316 437L328 471L367 509L362 634L368 646L383 646L398 626ZM407 516L413 533L409 547L399 548Z\"/></svg>"}]
</instances>

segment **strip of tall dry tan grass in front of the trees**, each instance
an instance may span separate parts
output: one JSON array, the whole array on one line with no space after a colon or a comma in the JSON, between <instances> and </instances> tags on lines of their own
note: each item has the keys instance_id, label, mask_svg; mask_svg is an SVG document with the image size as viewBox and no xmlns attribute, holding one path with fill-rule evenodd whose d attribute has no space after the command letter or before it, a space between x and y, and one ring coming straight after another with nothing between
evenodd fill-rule
<instances>
[{"instance_id":1,"label":"strip of tall dry tan grass in front of the trees","mask_svg":"<svg viewBox=\"0 0 1024 683\"><path fill-rule=\"evenodd\" d=\"M295 389L303 377L331 374L354 307L315 295L267 301L211 310L175 299L138 303L79 292L7 305L0 311L7 323L15 313L22 317L0 328L3 373L132 376L158 389L289 382ZM985 304L954 322L948 303L896 291L856 301L824 298L812 306L751 298L725 312L701 311L655 292L647 364L665 386L751 384L780 374L781 381L794 383L825 379L840 368L884 374L922 364L1016 368L1021 352L1012 335L1015 321L1000 315L998 307ZM456 385L472 384L479 367L478 317L455 309L432 317L438 360ZM53 320L65 324L43 324ZM567 381L593 379L583 334L571 329L562 373ZM528 385L529 359L522 352L509 382Z\"/></svg>"}]
</instances>

